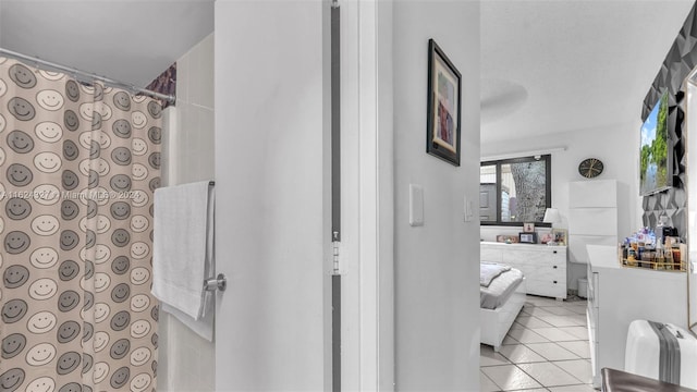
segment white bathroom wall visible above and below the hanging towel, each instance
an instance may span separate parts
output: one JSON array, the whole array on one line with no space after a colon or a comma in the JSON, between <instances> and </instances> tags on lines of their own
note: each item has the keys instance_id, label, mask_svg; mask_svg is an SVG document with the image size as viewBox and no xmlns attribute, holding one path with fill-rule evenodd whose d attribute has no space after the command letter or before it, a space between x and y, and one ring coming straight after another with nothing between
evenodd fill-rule
<instances>
[{"instance_id":1,"label":"white bathroom wall visible above and below the hanging towel","mask_svg":"<svg viewBox=\"0 0 697 392\"><path fill-rule=\"evenodd\" d=\"M212 180L213 35L176 61L176 107L164 110L162 184ZM158 391L212 391L215 345L160 311Z\"/></svg>"}]
</instances>

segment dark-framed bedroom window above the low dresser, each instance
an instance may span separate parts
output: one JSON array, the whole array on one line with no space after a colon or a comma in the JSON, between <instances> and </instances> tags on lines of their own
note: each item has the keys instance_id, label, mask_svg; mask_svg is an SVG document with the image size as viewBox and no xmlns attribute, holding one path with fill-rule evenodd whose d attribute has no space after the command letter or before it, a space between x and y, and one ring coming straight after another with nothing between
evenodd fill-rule
<instances>
[{"instance_id":1,"label":"dark-framed bedroom window above the low dresser","mask_svg":"<svg viewBox=\"0 0 697 392\"><path fill-rule=\"evenodd\" d=\"M481 162L479 220L489 225L542 223L552 205L551 156Z\"/></svg>"}]
</instances>

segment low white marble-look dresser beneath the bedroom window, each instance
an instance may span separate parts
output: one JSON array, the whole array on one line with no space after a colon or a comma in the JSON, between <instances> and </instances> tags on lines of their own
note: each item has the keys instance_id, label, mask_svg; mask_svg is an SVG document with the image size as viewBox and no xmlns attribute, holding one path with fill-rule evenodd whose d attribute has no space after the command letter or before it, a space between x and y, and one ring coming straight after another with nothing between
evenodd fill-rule
<instances>
[{"instance_id":1,"label":"low white marble-look dresser beneath the bedroom window","mask_svg":"<svg viewBox=\"0 0 697 392\"><path fill-rule=\"evenodd\" d=\"M566 246L482 242L480 252L481 261L523 271L528 294L566 298Z\"/></svg>"}]
</instances>

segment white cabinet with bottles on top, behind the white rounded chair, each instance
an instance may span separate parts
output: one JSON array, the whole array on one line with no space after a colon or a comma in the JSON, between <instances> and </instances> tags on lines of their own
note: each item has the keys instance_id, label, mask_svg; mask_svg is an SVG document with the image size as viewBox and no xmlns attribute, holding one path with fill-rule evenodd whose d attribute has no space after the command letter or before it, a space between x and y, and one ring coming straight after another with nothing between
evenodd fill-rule
<instances>
[{"instance_id":1,"label":"white cabinet with bottles on top, behind the white rounded chair","mask_svg":"<svg viewBox=\"0 0 697 392\"><path fill-rule=\"evenodd\" d=\"M594 384L600 369L624 369L627 330L633 320L687 324L684 272L623 268L617 247L588 245L587 319Z\"/></svg>"}]
</instances>

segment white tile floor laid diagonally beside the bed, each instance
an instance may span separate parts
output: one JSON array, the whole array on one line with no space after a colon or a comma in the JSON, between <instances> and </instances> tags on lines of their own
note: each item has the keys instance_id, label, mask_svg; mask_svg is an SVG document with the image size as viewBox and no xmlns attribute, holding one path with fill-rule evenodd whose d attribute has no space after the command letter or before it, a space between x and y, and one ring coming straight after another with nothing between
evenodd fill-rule
<instances>
[{"instance_id":1,"label":"white tile floor laid diagonally beside the bed","mask_svg":"<svg viewBox=\"0 0 697 392\"><path fill-rule=\"evenodd\" d=\"M528 295L499 353L481 345L480 391L594 392L586 301Z\"/></svg>"}]
</instances>

